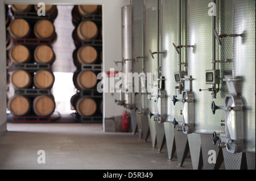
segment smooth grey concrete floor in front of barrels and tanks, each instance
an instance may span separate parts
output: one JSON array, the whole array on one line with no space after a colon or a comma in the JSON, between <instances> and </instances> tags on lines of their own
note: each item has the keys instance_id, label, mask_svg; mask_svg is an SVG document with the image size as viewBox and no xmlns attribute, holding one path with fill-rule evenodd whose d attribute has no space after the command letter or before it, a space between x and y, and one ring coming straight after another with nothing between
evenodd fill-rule
<instances>
[{"instance_id":1,"label":"smooth grey concrete floor in front of barrels and tanks","mask_svg":"<svg viewBox=\"0 0 256 181\"><path fill-rule=\"evenodd\" d=\"M7 123L0 137L0 169L192 170L191 158L177 167L138 135L102 131L102 124ZM38 150L46 152L39 164Z\"/></svg>"}]
</instances>

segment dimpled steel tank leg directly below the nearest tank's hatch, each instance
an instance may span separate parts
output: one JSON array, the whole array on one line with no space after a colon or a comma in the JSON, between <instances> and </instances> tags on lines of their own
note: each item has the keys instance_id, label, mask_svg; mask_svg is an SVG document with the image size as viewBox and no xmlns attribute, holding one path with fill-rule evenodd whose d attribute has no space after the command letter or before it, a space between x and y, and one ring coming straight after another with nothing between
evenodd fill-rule
<instances>
[{"instance_id":1,"label":"dimpled steel tank leg directly below the nearest tank's hatch","mask_svg":"<svg viewBox=\"0 0 256 181\"><path fill-rule=\"evenodd\" d=\"M245 153L232 154L226 148L223 148L222 151L226 170L247 170Z\"/></svg>"}]
</instances>

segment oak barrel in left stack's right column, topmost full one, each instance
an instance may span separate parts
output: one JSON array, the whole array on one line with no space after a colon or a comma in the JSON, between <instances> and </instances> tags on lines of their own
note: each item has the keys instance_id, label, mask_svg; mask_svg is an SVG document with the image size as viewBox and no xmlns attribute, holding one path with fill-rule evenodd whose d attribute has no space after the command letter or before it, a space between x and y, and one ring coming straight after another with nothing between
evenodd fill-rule
<instances>
[{"instance_id":1,"label":"oak barrel in left stack's right column, topmost full one","mask_svg":"<svg viewBox=\"0 0 256 181\"><path fill-rule=\"evenodd\" d=\"M42 19L36 22L34 34L38 39L56 39L56 32L53 23L47 19Z\"/></svg>"}]
</instances>

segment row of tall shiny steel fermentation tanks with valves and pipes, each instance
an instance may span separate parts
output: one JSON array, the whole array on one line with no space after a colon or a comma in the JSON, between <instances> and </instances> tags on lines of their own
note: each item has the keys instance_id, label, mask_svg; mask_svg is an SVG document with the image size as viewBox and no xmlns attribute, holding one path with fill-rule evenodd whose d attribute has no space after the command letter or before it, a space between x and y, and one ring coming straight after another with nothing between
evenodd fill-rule
<instances>
[{"instance_id":1,"label":"row of tall shiny steel fermentation tanks with valves and pipes","mask_svg":"<svg viewBox=\"0 0 256 181\"><path fill-rule=\"evenodd\" d=\"M193 169L255 169L255 1L131 1L122 56L140 79L117 103L140 138L179 166L190 152Z\"/></svg>"}]
</instances>

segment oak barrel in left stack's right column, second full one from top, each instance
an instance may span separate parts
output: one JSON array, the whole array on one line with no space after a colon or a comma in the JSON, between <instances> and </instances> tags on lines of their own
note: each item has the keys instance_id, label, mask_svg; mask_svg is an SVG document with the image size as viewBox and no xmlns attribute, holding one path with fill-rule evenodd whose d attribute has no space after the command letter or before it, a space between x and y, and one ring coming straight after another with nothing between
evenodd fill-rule
<instances>
[{"instance_id":1,"label":"oak barrel in left stack's right column, second full one from top","mask_svg":"<svg viewBox=\"0 0 256 181\"><path fill-rule=\"evenodd\" d=\"M34 59L38 64L52 64L55 61L55 53L47 45L39 45L34 51Z\"/></svg>"}]
</instances>

